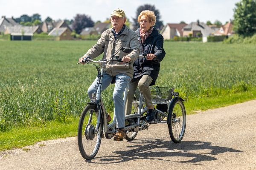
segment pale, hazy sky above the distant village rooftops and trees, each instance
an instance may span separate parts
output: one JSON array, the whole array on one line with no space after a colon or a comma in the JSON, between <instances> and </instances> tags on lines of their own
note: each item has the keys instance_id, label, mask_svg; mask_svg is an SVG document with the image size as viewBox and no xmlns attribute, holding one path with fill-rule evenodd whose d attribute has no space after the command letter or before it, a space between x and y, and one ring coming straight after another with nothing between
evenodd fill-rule
<instances>
[{"instance_id":1,"label":"pale, hazy sky above the distant village rooftops and trees","mask_svg":"<svg viewBox=\"0 0 256 170\"><path fill-rule=\"evenodd\" d=\"M86 14L96 22L105 21L111 11L122 8L126 17L137 18L137 8L144 4L154 5L160 12L160 20L166 23L200 22L215 20L225 24L233 19L233 9L240 0L0 0L0 16L20 17L40 14L41 19L74 19L76 14Z\"/></svg>"}]
</instances>

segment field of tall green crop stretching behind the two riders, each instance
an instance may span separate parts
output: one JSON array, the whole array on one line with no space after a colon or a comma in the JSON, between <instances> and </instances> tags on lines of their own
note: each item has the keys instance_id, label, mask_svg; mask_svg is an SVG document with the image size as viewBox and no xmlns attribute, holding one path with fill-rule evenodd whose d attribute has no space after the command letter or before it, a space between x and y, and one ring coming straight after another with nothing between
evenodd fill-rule
<instances>
[{"instance_id":1,"label":"field of tall green crop stretching behind the two riders","mask_svg":"<svg viewBox=\"0 0 256 170\"><path fill-rule=\"evenodd\" d=\"M0 41L0 131L79 116L96 69L76 63L95 42ZM194 110L189 102L195 99L247 91L252 93L244 100L256 98L255 45L165 42L164 49L157 85L174 86L188 111ZM113 85L103 94L109 112L112 91Z\"/></svg>"}]
</instances>

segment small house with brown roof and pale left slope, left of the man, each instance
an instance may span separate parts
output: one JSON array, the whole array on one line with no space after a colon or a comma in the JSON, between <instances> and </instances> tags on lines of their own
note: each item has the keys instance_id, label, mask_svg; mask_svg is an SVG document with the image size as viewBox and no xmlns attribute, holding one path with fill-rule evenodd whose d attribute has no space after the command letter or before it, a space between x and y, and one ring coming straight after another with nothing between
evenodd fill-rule
<instances>
[{"instance_id":1,"label":"small house with brown roof and pale left slope, left of the man","mask_svg":"<svg viewBox=\"0 0 256 170\"><path fill-rule=\"evenodd\" d=\"M61 27L53 28L48 35L56 37L57 40L72 40L73 37L71 36L71 33L71 29L67 27Z\"/></svg>"}]
</instances>

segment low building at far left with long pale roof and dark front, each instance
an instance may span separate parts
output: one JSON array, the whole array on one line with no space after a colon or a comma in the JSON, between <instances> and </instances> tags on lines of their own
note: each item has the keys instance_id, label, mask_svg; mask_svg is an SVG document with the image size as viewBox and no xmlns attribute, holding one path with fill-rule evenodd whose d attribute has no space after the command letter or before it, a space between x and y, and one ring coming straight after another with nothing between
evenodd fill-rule
<instances>
[{"instance_id":1,"label":"low building at far left with long pale roof and dark front","mask_svg":"<svg viewBox=\"0 0 256 170\"><path fill-rule=\"evenodd\" d=\"M35 33L41 33L39 26L7 26L4 34L10 34L11 40L32 40Z\"/></svg>"}]
</instances>

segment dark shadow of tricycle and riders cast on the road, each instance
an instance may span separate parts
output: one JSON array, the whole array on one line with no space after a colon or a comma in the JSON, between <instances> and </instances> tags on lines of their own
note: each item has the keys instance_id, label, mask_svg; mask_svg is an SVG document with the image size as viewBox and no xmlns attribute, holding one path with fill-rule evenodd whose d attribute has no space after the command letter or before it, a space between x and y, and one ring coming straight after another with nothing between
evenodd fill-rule
<instances>
[{"instance_id":1,"label":"dark shadow of tricycle and riders cast on the road","mask_svg":"<svg viewBox=\"0 0 256 170\"><path fill-rule=\"evenodd\" d=\"M229 147L213 146L210 142L201 141L182 141L175 144L172 141L163 141L162 139L134 139L130 141L130 150L115 151L115 155L107 157L96 157L88 162L112 164L120 163L123 161L131 161L137 159L151 159L151 160L166 160L167 157L186 157L175 159L180 163L193 163L198 164L200 161L216 160L214 155L225 152L242 152ZM166 157L166 159L165 159Z\"/></svg>"}]
</instances>

